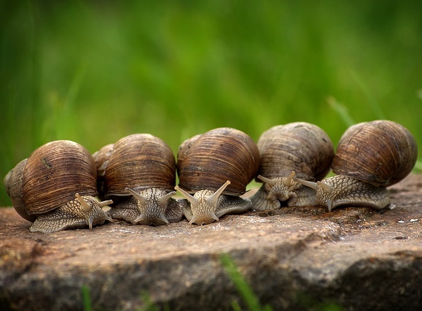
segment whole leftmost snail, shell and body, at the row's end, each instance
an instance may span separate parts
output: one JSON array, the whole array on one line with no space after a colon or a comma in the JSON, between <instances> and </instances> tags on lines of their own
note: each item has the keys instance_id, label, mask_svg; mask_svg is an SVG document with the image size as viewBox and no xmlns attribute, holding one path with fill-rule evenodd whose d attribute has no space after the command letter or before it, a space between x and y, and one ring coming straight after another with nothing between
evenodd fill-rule
<instances>
[{"instance_id":1,"label":"whole leftmost snail, shell and body, at the row's end","mask_svg":"<svg viewBox=\"0 0 422 311\"><path fill-rule=\"evenodd\" d=\"M4 178L17 213L33 223L30 232L51 233L113 221L97 196L95 162L84 147L69 140L42 145Z\"/></svg>"}]
</instances>

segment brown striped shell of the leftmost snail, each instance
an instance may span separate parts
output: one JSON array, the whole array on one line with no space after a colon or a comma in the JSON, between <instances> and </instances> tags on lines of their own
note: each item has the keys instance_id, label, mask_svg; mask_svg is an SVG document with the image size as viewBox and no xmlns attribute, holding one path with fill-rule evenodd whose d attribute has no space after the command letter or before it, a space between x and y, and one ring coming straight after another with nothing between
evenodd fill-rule
<instances>
[{"instance_id":1,"label":"brown striped shell of the leftmost snail","mask_svg":"<svg viewBox=\"0 0 422 311\"><path fill-rule=\"evenodd\" d=\"M31 215L60 207L73 200L75 193L96 196L96 177L89 151L76 142L55 140L19 162L4 182L17 212L34 221Z\"/></svg>"}]
</instances>

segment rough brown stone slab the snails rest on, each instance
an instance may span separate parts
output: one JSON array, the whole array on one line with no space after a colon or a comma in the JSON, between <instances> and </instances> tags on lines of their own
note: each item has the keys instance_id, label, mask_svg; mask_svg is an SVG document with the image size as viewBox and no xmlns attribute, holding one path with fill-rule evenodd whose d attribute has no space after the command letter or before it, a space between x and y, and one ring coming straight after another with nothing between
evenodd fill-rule
<instances>
[{"instance_id":1,"label":"rough brown stone slab the snails rest on","mask_svg":"<svg viewBox=\"0 0 422 311\"><path fill-rule=\"evenodd\" d=\"M0 209L0 308L230 310L228 253L273 310L422 310L422 176L390 189L393 208L283 207L199 227L107 223L30 233ZM241 302L240 302L241 303Z\"/></svg>"}]
</instances>

